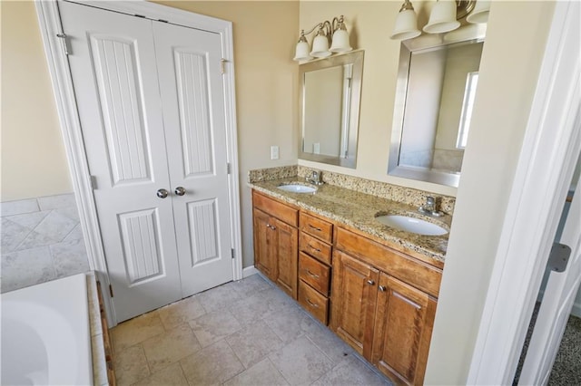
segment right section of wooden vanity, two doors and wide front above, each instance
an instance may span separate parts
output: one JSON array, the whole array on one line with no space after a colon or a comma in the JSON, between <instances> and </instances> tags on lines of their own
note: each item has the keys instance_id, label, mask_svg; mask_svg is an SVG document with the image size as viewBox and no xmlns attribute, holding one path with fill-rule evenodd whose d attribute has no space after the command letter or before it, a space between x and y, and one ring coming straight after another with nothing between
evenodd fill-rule
<instances>
[{"instance_id":1,"label":"right section of wooden vanity, two doors and wide front above","mask_svg":"<svg viewBox=\"0 0 581 386\"><path fill-rule=\"evenodd\" d=\"M422 384L441 271L340 227L336 246L331 329L392 381Z\"/></svg>"}]
</instances>

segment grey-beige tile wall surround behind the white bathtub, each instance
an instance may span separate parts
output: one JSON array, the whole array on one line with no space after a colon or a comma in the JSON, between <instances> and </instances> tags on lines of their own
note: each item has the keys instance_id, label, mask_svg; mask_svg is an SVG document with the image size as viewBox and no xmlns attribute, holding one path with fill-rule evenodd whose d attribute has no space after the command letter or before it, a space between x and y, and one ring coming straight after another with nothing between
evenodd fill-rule
<instances>
[{"instance_id":1,"label":"grey-beige tile wall surround behind the white bathtub","mask_svg":"<svg viewBox=\"0 0 581 386\"><path fill-rule=\"evenodd\" d=\"M89 270L74 194L0 203L1 292Z\"/></svg>"}]
</instances>

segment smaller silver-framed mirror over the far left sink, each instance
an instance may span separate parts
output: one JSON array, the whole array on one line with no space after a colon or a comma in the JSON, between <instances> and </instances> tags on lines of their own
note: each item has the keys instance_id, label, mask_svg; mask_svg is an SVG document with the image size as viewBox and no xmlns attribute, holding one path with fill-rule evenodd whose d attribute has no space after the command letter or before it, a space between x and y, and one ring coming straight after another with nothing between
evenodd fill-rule
<instances>
[{"instance_id":1,"label":"smaller silver-framed mirror over the far left sink","mask_svg":"<svg viewBox=\"0 0 581 386\"><path fill-rule=\"evenodd\" d=\"M300 64L299 158L355 168L363 51Z\"/></svg>"}]
</instances>

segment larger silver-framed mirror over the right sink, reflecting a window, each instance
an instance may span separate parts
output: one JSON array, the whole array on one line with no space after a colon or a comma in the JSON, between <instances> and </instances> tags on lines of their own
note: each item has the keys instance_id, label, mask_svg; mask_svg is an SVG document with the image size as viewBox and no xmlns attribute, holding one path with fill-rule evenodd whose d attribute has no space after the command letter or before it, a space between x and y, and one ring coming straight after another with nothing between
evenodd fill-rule
<instances>
[{"instance_id":1,"label":"larger silver-framed mirror over the right sink, reflecting a window","mask_svg":"<svg viewBox=\"0 0 581 386\"><path fill-rule=\"evenodd\" d=\"M486 24L403 41L388 174L458 187Z\"/></svg>"}]
</instances>

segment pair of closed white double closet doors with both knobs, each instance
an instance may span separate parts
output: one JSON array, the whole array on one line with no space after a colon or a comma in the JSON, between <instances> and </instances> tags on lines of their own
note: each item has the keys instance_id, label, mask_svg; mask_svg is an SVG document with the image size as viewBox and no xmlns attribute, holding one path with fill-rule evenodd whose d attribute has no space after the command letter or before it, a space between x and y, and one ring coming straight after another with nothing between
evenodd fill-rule
<instances>
[{"instance_id":1,"label":"pair of closed white double closet doors with both knobs","mask_svg":"<svg viewBox=\"0 0 581 386\"><path fill-rule=\"evenodd\" d=\"M231 281L220 36L59 9L117 322Z\"/></svg>"}]
</instances>

